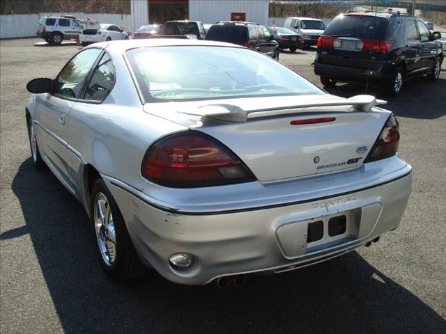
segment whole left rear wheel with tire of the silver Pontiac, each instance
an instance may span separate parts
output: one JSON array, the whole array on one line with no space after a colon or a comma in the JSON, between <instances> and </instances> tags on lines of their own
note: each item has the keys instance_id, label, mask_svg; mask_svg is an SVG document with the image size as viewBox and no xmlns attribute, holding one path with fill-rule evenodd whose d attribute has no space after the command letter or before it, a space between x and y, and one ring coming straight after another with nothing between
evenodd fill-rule
<instances>
[{"instance_id":1,"label":"whole left rear wheel with tire of the silver Pontiac","mask_svg":"<svg viewBox=\"0 0 446 334\"><path fill-rule=\"evenodd\" d=\"M118 205L101 178L93 184L90 204L93 237L102 269L121 282L141 276L146 267L139 260Z\"/></svg>"}]
</instances>

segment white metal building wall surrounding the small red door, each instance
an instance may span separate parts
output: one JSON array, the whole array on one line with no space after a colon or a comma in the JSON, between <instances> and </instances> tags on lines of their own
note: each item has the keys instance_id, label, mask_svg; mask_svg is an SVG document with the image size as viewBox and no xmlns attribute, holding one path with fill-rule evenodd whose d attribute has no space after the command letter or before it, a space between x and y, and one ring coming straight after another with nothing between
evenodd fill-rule
<instances>
[{"instance_id":1,"label":"white metal building wall surrounding the small red door","mask_svg":"<svg viewBox=\"0 0 446 334\"><path fill-rule=\"evenodd\" d=\"M246 13L247 21L268 24L268 0L189 0L189 19L201 23L230 20L231 13Z\"/></svg>"}]
</instances>

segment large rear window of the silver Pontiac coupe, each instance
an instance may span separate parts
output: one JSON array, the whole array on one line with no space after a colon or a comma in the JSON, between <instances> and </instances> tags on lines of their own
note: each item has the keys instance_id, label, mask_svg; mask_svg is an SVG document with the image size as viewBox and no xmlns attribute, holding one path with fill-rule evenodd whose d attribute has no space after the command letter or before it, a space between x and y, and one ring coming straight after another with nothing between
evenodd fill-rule
<instances>
[{"instance_id":1,"label":"large rear window of the silver Pontiac coupe","mask_svg":"<svg viewBox=\"0 0 446 334\"><path fill-rule=\"evenodd\" d=\"M126 52L146 102L324 94L268 56L236 47L146 47Z\"/></svg>"}]
</instances>

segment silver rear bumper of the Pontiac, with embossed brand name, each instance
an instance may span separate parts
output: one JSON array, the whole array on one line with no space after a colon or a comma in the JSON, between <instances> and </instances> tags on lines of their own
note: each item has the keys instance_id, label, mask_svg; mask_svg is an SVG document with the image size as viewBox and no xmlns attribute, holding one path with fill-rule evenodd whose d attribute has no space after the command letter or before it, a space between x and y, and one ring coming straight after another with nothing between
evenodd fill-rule
<instances>
[{"instance_id":1,"label":"silver rear bumper of the Pontiac, with embossed brand name","mask_svg":"<svg viewBox=\"0 0 446 334\"><path fill-rule=\"evenodd\" d=\"M394 230L410 195L410 170L406 165L393 180L347 194L216 213L160 209L144 200L136 189L104 178L141 260L168 280L203 285L220 276L305 267L347 253ZM324 232L327 242L306 245L307 223L326 221L342 212L356 216L348 235L329 239ZM284 228L289 229L285 234ZM295 249L294 241L305 244L305 248ZM168 259L174 253L193 255L193 266L185 270L172 268Z\"/></svg>"}]
</instances>

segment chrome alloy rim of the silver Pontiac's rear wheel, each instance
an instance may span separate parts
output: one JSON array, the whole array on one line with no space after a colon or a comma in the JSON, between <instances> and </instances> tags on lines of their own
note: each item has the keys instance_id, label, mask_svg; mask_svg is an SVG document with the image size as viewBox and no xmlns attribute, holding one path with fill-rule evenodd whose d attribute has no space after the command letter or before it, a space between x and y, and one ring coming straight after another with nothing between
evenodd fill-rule
<instances>
[{"instance_id":1,"label":"chrome alloy rim of the silver Pontiac's rear wheel","mask_svg":"<svg viewBox=\"0 0 446 334\"><path fill-rule=\"evenodd\" d=\"M112 267L116 260L116 233L109 201L104 193L95 198L94 224L102 260Z\"/></svg>"}]
</instances>

